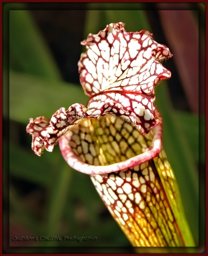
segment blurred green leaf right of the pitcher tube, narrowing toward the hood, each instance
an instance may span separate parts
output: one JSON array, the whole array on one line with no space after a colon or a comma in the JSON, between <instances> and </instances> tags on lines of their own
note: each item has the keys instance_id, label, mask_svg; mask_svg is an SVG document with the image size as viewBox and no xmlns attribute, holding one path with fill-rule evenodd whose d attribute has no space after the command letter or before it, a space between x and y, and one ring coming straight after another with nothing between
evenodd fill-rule
<instances>
[{"instance_id":1,"label":"blurred green leaf right of the pitcher tube, narrowing toward the hood","mask_svg":"<svg viewBox=\"0 0 208 256\"><path fill-rule=\"evenodd\" d=\"M155 105L163 117L163 147L175 172L182 204L194 240L198 241L198 175L196 163L186 137L182 134L182 129L177 123L165 81L156 90Z\"/></svg>"}]
</instances>

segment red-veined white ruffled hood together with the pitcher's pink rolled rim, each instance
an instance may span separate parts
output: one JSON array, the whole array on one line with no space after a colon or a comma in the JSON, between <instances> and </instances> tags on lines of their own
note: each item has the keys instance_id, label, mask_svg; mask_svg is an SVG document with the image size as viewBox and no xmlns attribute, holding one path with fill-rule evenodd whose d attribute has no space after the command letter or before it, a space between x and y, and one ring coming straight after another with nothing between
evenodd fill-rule
<instances>
[{"instance_id":1,"label":"red-veined white ruffled hood together with the pitcher's pink rolled rim","mask_svg":"<svg viewBox=\"0 0 208 256\"><path fill-rule=\"evenodd\" d=\"M83 40L87 51L80 57L78 71L84 92L90 96L87 108L76 103L68 110L60 108L50 120L38 117L33 121L30 118L26 131L33 136L32 150L35 154L40 156L44 148L53 151L59 141L63 157L70 159L67 163L82 171L80 161L73 162L75 155L67 142L70 139L68 131L75 129L82 119L99 119L108 115L132 123L142 135L155 127L155 135L146 152L120 164L105 166L105 172L134 166L142 159L150 160L161 150L162 118L155 110L154 87L171 77L171 72L159 60L172 54L166 46L156 43L150 32L126 32L124 25L122 22L111 23L98 34L89 34ZM88 174L99 173L99 166L91 168L85 165L84 168Z\"/></svg>"}]
</instances>

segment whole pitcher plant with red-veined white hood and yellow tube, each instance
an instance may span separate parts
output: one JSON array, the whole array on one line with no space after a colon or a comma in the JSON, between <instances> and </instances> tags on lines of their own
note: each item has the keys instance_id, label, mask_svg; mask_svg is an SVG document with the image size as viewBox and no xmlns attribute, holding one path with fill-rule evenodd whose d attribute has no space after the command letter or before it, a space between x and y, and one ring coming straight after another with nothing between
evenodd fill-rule
<instances>
[{"instance_id":1,"label":"whole pitcher plant with red-veined white hood and yellow tube","mask_svg":"<svg viewBox=\"0 0 208 256\"><path fill-rule=\"evenodd\" d=\"M162 61L172 54L150 32L124 26L111 23L83 40L78 71L87 107L30 118L32 150L41 156L58 142L69 166L90 175L133 246L195 246L154 105L155 86L171 77Z\"/></svg>"}]
</instances>

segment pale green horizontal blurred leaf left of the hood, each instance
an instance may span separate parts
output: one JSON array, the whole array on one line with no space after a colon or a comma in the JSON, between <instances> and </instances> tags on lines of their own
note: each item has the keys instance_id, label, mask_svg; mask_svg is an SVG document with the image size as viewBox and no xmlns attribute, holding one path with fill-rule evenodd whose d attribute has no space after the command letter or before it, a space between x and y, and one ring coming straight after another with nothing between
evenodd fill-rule
<instances>
[{"instance_id":1,"label":"pale green horizontal blurred leaf left of the hood","mask_svg":"<svg viewBox=\"0 0 208 256\"><path fill-rule=\"evenodd\" d=\"M87 102L81 86L12 71L9 92L10 118L24 124L30 117L44 115L50 118L61 107L68 109L76 102Z\"/></svg>"}]
</instances>

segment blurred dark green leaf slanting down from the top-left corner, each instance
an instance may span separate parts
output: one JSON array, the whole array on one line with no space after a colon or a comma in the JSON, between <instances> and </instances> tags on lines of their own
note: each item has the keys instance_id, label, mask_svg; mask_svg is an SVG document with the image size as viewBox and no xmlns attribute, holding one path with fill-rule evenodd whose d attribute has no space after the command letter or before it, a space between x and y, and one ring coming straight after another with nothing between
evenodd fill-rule
<instances>
[{"instance_id":1,"label":"blurred dark green leaf slanting down from the top-left corner","mask_svg":"<svg viewBox=\"0 0 208 256\"><path fill-rule=\"evenodd\" d=\"M27 10L9 11L10 65L17 71L60 80L60 71Z\"/></svg>"}]
</instances>

